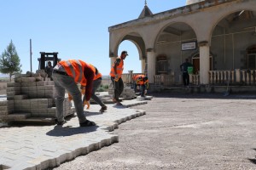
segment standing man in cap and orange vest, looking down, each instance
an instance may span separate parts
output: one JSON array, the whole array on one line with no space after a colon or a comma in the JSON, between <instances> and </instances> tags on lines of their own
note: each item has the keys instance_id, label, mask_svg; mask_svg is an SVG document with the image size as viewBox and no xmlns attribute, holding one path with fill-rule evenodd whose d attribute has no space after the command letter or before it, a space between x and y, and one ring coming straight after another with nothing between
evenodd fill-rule
<instances>
[{"instance_id":1,"label":"standing man in cap and orange vest, looking down","mask_svg":"<svg viewBox=\"0 0 256 170\"><path fill-rule=\"evenodd\" d=\"M113 102L116 103L116 105L122 105L119 96L124 90L122 74L124 70L124 60L127 55L127 51L122 51L121 55L115 59L109 74L114 88Z\"/></svg>"}]
</instances>

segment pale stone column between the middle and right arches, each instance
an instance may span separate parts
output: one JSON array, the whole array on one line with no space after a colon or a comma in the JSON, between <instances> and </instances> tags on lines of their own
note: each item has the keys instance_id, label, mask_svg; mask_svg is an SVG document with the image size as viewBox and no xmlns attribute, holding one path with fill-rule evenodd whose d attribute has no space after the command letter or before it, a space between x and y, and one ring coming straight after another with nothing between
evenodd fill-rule
<instances>
[{"instance_id":1,"label":"pale stone column between the middle and right arches","mask_svg":"<svg viewBox=\"0 0 256 170\"><path fill-rule=\"evenodd\" d=\"M200 84L209 84L210 47L208 42L199 42L200 50Z\"/></svg>"}]
</instances>

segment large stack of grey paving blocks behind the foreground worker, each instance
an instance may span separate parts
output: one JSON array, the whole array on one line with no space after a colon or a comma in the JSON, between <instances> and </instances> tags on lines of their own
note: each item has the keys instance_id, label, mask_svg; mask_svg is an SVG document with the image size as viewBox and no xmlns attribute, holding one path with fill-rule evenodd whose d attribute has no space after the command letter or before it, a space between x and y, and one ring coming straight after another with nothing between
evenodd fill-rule
<instances>
[{"instance_id":1,"label":"large stack of grey paving blocks behind the foreground worker","mask_svg":"<svg viewBox=\"0 0 256 170\"><path fill-rule=\"evenodd\" d=\"M40 73L15 77L7 84L7 100L0 101L0 119L20 121L28 118L55 119L55 86ZM73 115L74 108L67 97L64 99L64 116Z\"/></svg>"}]
</instances>

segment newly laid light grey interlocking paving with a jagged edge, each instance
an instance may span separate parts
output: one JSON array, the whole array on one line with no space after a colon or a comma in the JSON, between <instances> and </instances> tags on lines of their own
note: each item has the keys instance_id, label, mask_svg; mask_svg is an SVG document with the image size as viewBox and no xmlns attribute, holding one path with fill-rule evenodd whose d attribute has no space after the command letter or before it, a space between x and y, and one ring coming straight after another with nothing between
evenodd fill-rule
<instances>
[{"instance_id":1,"label":"newly laid light grey interlocking paving with a jagged edge","mask_svg":"<svg viewBox=\"0 0 256 170\"><path fill-rule=\"evenodd\" d=\"M61 126L24 126L0 128L0 170L45 169L56 167L77 156L119 141L111 133L119 123L143 116L145 111L129 109L147 104L142 99L125 100L124 106L108 105L108 111L99 113L99 105L90 105L87 118L96 127L79 127L78 117Z\"/></svg>"}]
</instances>

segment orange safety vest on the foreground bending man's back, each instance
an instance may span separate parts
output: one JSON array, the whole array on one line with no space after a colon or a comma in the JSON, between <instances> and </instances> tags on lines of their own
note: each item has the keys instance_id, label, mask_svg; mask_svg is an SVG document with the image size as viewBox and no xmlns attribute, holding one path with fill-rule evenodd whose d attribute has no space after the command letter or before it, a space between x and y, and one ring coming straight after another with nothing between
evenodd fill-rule
<instances>
[{"instance_id":1,"label":"orange safety vest on the foreground bending man's back","mask_svg":"<svg viewBox=\"0 0 256 170\"><path fill-rule=\"evenodd\" d=\"M61 60L58 64L64 67L68 76L73 77L76 83L85 86L84 82L86 82L86 80L84 78L84 67L88 66L87 63L80 59L68 59Z\"/></svg>"}]
</instances>

